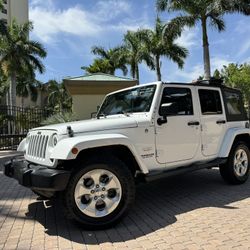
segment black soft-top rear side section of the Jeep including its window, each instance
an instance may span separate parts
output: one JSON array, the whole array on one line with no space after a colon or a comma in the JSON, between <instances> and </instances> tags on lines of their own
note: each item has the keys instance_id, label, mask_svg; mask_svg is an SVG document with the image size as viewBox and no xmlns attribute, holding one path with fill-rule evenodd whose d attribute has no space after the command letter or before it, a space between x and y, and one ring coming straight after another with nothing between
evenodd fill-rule
<instances>
[{"instance_id":1,"label":"black soft-top rear side section of the Jeep including its window","mask_svg":"<svg viewBox=\"0 0 250 250\"><path fill-rule=\"evenodd\" d=\"M224 90L223 96L225 101L227 120L228 121L247 120L247 115L243 105L241 93L239 91Z\"/></svg>"}]
</instances>

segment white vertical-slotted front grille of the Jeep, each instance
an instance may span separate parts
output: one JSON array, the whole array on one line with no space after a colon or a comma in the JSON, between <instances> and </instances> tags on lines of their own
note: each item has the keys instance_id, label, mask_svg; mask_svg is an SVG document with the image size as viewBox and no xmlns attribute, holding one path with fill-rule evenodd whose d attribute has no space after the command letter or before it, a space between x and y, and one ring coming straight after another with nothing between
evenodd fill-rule
<instances>
[{"instance_id":1,"label":"white vertical-slotted front grille of the Jeep","mask_svg":"<svg viewBox=\"0 0 250 250\"><path fill-rule=\"evenodd\" d=\"M45 159L48 139L48 135L31 135L29 137L27 155Z\"/></svg>"}]
</instances>

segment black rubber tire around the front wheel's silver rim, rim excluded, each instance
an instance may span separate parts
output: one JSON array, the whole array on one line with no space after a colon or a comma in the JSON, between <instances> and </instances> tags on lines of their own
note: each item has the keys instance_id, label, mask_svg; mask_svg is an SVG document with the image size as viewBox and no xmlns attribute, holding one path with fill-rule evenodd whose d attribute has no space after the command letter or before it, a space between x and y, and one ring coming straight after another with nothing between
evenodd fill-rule
<instances>
[{"instance_id":1,"label":"black rubber tire around the front wheel's silver rim, rim excluded","mask_svg":"<svg viewBox=\"0 0 250 250\"><path fill-rule=\"evenodd\" d=\"M96 157L88 161L76 162L76 171L72 174L68 186L63 193L65 214L69 219L79 222L85 229L98 230L117 224L129 211L135 199L135 180L128 167L114 156ZM112 172L119 180L122 195L119 205L110 214L94 218L84 214L76 205L74 192L80 178L95 169L105 169Z\"/></svg>"}]
</instances>

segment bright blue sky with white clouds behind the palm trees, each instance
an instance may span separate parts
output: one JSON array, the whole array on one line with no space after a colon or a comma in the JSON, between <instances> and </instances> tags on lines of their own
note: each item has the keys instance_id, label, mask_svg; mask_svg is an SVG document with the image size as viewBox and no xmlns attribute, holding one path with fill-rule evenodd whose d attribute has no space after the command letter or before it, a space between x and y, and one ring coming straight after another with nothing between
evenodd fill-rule
<instances>
[{"instance_id":1,"label":"bright blue sky with white clouds behind the palm trees","mask_svg":"<svg viewBox=\"0 0 250 250\"><path fill-rule=\"evenodd\" d=\"M29 16L34 23L31 38L42 42L48 56L46 72L38 79L60 81L83 75L81 66L91 64L93 45L111 48L122 42L127 30L151 28L156 17L155 0L30 0ZM162 13L168 21L173 14ZM209 28L212 70L228 63L250 62L250 17L225 16L226 31ZM203 72L202 43L199 26L185 30L177 42L188 48L183 70L162 58L164 81L186 82ZM117 75L122 75L117 71ZM129 75L128 75L129 77ZM154 71L140 65L140 82L156 80Z\"/></svg>"}]
</instances>

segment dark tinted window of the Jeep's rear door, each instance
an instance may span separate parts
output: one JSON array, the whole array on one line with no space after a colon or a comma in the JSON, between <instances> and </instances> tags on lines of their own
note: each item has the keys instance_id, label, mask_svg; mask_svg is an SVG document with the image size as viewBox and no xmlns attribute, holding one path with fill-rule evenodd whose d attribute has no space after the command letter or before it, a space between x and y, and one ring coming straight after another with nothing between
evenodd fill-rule
<instances>
[{"instance_id":1,"label":"dark tinted window of the Jeep's rear door","mask_svg":"<svg viewBox=\"0 0 250 250\"><path fill-rule=\"evenodd\" d=\"M203 115L222 114L220 93L217 90L199 89L201 112Z\"/></svg>"}]
</instances>

